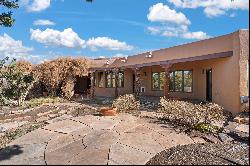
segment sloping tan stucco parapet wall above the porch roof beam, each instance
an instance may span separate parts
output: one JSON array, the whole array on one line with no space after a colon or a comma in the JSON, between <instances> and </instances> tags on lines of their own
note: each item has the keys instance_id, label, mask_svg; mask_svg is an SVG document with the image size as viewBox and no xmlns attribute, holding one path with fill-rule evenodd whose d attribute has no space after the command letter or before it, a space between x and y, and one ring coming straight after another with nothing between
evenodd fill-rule
<instances>
[{"instance_id":1,"label":"sloping tan stucco parapet wall above the porch roof beam","mask_svg":"<svg viewBox=\"0 0 250 166\"><path fill-rule=\"evenodd\" d=\"M148 55L148 52L129 56L126 63L120 62L117 65L129 66L232 51L232 35L233 33L166 49L156 50L152 52L152 58L145 57L145 55Z\"/></svg>"}]
</instances>

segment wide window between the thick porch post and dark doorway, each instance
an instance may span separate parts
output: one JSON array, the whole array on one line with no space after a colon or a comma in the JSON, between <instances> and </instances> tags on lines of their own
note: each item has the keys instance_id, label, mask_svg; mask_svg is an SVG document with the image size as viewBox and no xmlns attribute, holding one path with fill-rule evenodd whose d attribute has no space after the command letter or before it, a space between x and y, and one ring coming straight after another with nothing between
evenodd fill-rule
<instances>
[{"instance_id":1,"label":"wide window between the thick porch post and dark doorway","mask_svg":"<svg viewBox=\"0 0 250 166\"><path fill-rule=\"evenodd\" d=\"M192 92L193 72L191 70L173 71L170 73L169 90L171 92Z\"/></svg>"}]
</instances>

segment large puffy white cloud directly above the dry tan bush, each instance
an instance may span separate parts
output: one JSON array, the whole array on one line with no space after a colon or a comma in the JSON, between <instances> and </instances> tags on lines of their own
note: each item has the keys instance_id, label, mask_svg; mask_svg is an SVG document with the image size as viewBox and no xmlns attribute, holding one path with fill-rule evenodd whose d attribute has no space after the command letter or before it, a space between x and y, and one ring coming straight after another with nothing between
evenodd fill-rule
<instances>
[{"instance_id":1,"label":"large puffy white cloud directly above the dry tan bush","mask_svg":"<svg viewBox=\"0 0 250 166\"><path fill-rule=\"evenodd\" d=\"M82 40L71 28L58 31L47 28L44 31L40 29L30 29L31 40L43 43L46 46L59 46L68 48L84 48L85 41Z\"/></svg>"}]
</instances>

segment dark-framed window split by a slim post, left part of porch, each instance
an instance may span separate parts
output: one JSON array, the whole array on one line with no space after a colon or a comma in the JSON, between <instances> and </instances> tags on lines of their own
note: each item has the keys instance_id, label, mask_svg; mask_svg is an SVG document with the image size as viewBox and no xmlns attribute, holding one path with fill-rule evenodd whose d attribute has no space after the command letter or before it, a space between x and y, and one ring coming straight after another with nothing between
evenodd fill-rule
<instances>
[{"instance_id":1,"label":"dark-framed window split by a slim post, left part of porch","mask_svg":"<svg viewBox=\"0 0 250 166\"><path fill-rule=\"evenodd\" d=\"M124 72L118 73L117 84L119 88L124 87ZM106 88L115 88L115 73L114 72L106 72Z\"/></svg>"}]
</instances>

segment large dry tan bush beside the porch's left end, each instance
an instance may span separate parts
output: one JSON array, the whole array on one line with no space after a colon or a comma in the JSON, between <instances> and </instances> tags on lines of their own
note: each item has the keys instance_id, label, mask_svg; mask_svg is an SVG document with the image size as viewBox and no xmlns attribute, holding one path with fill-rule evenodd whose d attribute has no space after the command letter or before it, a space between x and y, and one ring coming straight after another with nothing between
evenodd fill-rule
<instances>
[{"instance_id":1,"label":"large dry tan bush beside the porch's left end","mask_svg":"<svg viewBox=\"0 0 250 166\"><path fill-rule=\"evenodd\" d=\"M35 66L32 73L45 86L49 95L56 96L57 92L63 90L63 97L70 98L72 88L68 88L70 85L67 81L75 82L75 79L70 78L88 75L88 67L89 62L85 58L58 58ZM67 88L62 89L62 86ZM66 92L66 89L69 91Z\"/></svg>"}]
</instances>

